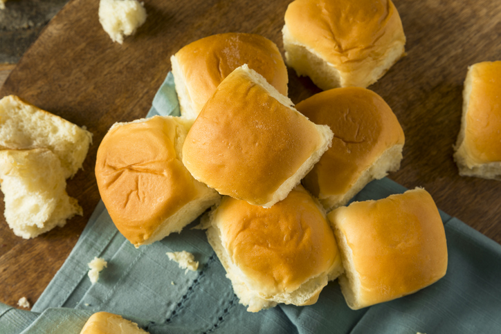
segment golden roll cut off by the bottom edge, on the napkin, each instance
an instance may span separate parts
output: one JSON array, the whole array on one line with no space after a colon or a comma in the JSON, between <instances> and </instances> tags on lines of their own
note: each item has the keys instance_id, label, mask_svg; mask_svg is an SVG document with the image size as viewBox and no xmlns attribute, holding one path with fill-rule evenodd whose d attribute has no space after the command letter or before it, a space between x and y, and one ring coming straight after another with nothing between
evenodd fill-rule
<instances>
[{"instance_id":1,"label":"golden roll cut off by the bottom edge, on the napkin","mask_svg":"<svg viewBox=\"0 0 501 334\"><path fill-rule=\"evenodd\" d=\"M80 334L145 334L138 324L113 313L98 312L89 317Z\"/></svg>"}]
</instances>

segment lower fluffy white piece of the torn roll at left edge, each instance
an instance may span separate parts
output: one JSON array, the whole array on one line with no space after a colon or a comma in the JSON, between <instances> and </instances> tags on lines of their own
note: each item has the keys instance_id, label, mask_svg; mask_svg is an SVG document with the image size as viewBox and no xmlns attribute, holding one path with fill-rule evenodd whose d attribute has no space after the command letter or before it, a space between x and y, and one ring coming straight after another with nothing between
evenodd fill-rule
<instances>
[{"instance_id":1,"label":"lower fluffy white piece of the torn roll at left edge","mask_svg":"<svg viewBox=\"0 0 501 334\"><path fill-rule=\"evenodd\" d=\"M82 215L77 200L66 194L64 169L50 149L0 150L0 182L6 221L24 239Z\"/></svg>"}]
</instances>

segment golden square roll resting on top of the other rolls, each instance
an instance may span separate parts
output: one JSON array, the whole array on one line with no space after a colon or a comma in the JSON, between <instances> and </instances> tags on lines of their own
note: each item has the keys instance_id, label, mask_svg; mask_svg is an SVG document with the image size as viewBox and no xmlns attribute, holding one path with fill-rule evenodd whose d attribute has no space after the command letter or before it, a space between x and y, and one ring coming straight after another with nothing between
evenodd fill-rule
<instances>
[{"instance_id":1,"label":"golden square roll resting on top of the other rolls","mask_svg":"<svg viewBox=\"0 0 501 334\"><path fill-rule=\"evenodd\" d=\"M190 129L184 165L219 194L271 207L300 183L333 136L291 106L264 77L237 68Z\"/></svg>"}]
</instances>

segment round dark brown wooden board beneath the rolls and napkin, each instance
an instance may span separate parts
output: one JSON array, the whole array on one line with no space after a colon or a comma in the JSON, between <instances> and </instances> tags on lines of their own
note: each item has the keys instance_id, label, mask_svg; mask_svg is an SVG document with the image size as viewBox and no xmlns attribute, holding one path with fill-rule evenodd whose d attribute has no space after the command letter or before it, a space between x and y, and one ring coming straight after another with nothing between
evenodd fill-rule
<instances>
[{"instance_id":1,"label":"round dark brown wooden board beneath the rolls and napkin","mask_svg":"<svg viewBox=\"0 0 501 334\"><path fill-rule=\"evenodd\" d=\"M84 170L68 181L84 216L32 240L0 218L0 301L33 304L75 245L99 201L95 155L117 121L145 116L170 71L170 55L215 33L257 33L282 50L289 0L145 0L148 18L122 46L98 22L97 0L73 0L46 26L0 89L17 94L94 134ZM501 59L501 2L395 0L407 36L407 57L369 88L392 107L406 133L401 169L390 178L425 187L441 210L501 243L501 183L461 178L453 162L468 65ZM297 103L320 91L289 70ZM3 197L3 196L2 196ZM0 201L3 211L3 201Z\"/></svg>"}]
</instances>

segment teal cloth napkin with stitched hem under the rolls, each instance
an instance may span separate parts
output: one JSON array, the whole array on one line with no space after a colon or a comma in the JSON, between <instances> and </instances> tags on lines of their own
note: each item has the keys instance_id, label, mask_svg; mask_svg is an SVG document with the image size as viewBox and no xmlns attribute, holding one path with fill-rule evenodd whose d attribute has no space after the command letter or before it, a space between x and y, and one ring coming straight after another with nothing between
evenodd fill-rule
<instances>
[{"instance_id":1,"label":"teal cloth napkin with stitched hem under the rolls","mask_svg":"<svg viewBox=\"0 0 501 334\"><path fill-rule=\"evenodd\" d=\"M179 115L169 73L152 115ZM354 201L385 198L406 189L388 178L367 185ZM192 230L134 248L113 225L103 203L32 311L0 304L0 333L80 333L99 310L123 315L149 333L501 333L501 245L440 212L448 244L448 270L418 293L350 310L337 281L311 306L279 305L248 313L233 293L205 232ZM493 222L496 223L496 222ZM186 250L200 262L179 268L166 252ZM87 263L108 261L91 285Z\"/></svg>"}]
</instances>

